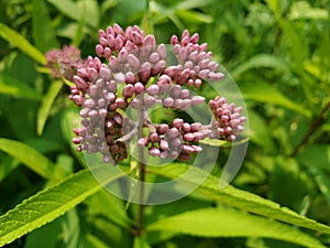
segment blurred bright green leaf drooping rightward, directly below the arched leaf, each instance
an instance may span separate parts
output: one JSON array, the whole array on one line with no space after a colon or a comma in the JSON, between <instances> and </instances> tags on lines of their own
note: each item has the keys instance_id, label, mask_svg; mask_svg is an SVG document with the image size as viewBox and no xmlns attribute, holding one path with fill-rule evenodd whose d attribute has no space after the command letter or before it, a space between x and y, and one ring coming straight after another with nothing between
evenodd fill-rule
<instances>
[{"instance_id":1,"label":"blurred bright green leaf drooping rightward, directly below the arched leaf","mask_svg":"<svg viewBox=\"0 0 330 248\"><path fill-rule=\"evenodd\" d=\"M311 117L310 110L284 96L277 88L264 83L253 82L241 87L244 99L278 105L292 109L306 117Z\"/></svg>"}]
</instances>

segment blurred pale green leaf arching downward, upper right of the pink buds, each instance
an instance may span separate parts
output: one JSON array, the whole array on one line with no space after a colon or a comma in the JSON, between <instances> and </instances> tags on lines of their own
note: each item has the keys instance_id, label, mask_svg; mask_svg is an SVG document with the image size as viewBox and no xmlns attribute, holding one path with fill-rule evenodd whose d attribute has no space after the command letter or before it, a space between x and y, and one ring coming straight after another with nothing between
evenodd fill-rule
<instances>
[{"instance_id":1,"label":"blurred pale green leaf arching downward, upper right of the pink buds","mask_svg":"<svg viewBox=\"0 0 330 248\"><path fill-rule=\"evenodd\" d=\"M251 57L249 61L237 66L231 75L233 78L239 78L243 73L258 67L268 67L279 69L282 72L288 72L288 65L285 61L271 54L258 54Z\"/></svg>"}]
</instances>

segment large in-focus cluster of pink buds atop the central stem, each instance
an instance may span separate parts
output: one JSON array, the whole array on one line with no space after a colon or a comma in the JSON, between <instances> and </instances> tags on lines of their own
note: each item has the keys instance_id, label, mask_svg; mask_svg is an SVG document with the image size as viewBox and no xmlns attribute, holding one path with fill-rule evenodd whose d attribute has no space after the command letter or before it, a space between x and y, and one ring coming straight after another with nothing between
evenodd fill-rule
<instances>
[{"instance_id":1,"label":"large in-focus cluster of pink buds atop the central stem","mask_svg":"<svg viewBox=\"0 0 330 248\"><path fill-rule=\"evenodd\" d=\"M173 36L168 47L157 45L155 36L145 35L138 25L125 31L118 24L100 30L98 57L86 60L70 88L69 98L81 106L81 126L74 130L78 150L100 152L105 162L116 164L128 157L127 141L140 133L138 144L150 155L189 160L202 150L198 145L202 139L235 140L245 118L240 107L227 104L223 97L209 101L213 118L206 126L180 118L151 123L147 116L146 110L155 105L182 111L204 104L206 98L194 95L189 87L199 88L204 80L223 77L207 44L198 44L198 34L190 36L184 31L182 41ZM174 65L166 64L168 53L177 58ZM129 107L139 111L138 122L125 115Z\"/></svg>"}]
</instances>

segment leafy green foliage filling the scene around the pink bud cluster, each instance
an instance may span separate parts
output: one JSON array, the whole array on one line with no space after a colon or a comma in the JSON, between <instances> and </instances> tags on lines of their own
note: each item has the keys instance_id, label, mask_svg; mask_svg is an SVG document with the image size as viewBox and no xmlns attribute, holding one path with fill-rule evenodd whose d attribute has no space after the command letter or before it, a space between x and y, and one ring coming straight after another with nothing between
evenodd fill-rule
<instances>
[{"instance_id":1,"label":"leafy green foliage filling the scene around the pink bud cluster","mask_svg":"<svg viewBox=\"0 0 330 248\"><path fill-rule=\"evenodd\" d=\"M0 2L0 247L329 247L329 13L316 0ZM141 235L138 206L109 194L72 143L79 109L67 99L69 83L43 67L53 47L95 56L98 30L114 22L164 43L198 32L235 79L250 122L231 185L219 187L230 143L205 140L221 151L211 175L183 200L144 206ZM147 177L188 169L150 166ZM95 170L105 185L122 175ZM183 185L206 175L189 173Z\"/></svg>"}]
</instances>

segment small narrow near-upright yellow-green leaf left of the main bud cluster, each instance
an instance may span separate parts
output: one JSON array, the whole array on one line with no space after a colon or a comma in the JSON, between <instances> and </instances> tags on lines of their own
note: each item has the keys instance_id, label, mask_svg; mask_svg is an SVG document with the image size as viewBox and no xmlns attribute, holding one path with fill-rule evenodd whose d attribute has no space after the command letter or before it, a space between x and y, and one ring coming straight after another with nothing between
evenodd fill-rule
<instances>
[{"instance_id":1,"label":"small narrow near-upright yellow-green leaf left of the main bud cluster","mask_svg":"<svg viewBox=\"0 0 330 248\"><path fill-rule=\"evenodd\" d=\"M61 88L62 88L62 82L56 80L53 82L52 85L48 88L48 91L43 97L42 104L40 106L40 109L37 111L37 120L36 120L36 132L38 136L43 133L44 126L46 123L47 117L50 115L51 107L58 95Z\"/></svg>"}]
</instances>

